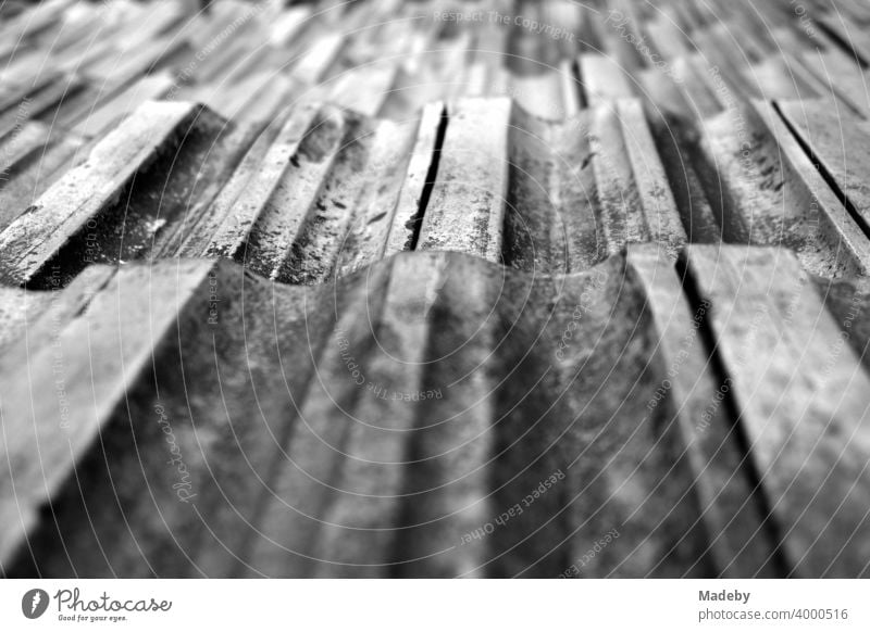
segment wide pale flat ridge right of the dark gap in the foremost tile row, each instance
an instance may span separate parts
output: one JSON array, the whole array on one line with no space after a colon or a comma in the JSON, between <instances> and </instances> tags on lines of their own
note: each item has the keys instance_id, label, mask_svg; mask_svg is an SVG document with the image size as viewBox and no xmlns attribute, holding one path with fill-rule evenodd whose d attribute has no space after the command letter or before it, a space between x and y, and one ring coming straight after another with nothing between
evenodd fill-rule
<instances>
[{"instance_id":1,"label":"wide pale flat ridge right of the dark gap in the foremost tile row","mask_svg":"<svg viewBox=\"0 0 870 632\"><path fill-rule=\"evenodd\" d=\"M792 572L866 574L870 380L858 357L793 257L693 247L687 261Z\"/></svg>"}]
</instances>

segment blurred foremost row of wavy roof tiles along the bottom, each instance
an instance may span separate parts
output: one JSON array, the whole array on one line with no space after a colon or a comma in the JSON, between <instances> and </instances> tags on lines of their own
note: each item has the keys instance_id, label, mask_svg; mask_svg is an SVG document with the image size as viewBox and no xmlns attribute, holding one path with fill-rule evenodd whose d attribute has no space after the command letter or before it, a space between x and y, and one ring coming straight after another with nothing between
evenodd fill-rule
<instances>
[{"instance_id":1,"label":"blurred foremost row of wavy roof tiles along the bottom","mask_svg":"<svg viewBox=\"0 0 870 632\"><path fill-rule=\"evenodd\" d=\"M857 357L845 349L848 362L822 362L838 329L787 251L692 247L685 261L689 294L660 247L554 277L406 254L321 289L227 263L94 268L104 280L83 307L47 309L40 323L57 344L30 350L29 378L4 371L17 438L7 458L30 444L57 455L8 462L16 500L3 497L4 522L15 503L29 518L4 531L7 572L556 576L616 529L582 574L860 574L857 380L868 378ZM778 293L732 280L737 266L768 278L771 265ZM787 314L794 339L768 331ZM810 328L819 318L825 326ZM87 362L83 345L103 362ZM746 363L747 345L762 362ZM34 409L29 393L53 380L59 352L65 400L42 396L46 410ZM10 346L4 366L21 353ZM822 382L835 397L819 397ZM59 404L60 431L33 426ZM824 439L830 424L840 431ZM166 465L172 446L188 502ZM830 489L817 493L807 464L829 471L832 451ZM755 472L763 500L750 491ZM467 535L550 475L527 514ZM116 503L103 502L107 485ZM36 523L46 500L57 522Z\"/></svg>"}]
</instances>

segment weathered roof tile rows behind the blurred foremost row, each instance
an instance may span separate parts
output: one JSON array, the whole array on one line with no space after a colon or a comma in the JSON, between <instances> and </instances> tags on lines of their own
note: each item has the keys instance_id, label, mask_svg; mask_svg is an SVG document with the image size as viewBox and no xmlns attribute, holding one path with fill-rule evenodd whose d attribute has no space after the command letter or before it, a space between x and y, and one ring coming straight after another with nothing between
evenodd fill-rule
<instances>
[{"instance_id":1,"label":"weathered roof tile rows behind the blurred foremost row","mask_svg":"<svg viewBox=\"0 0 870 632\"><path fill-rule=\"evenodd\" d=\"M836 144L843 136L845 160L862 164L866 129L857 118L840 123L862 110L854 91L836 88L855 71L834 42L824 43L820 76L787 28L761 33L728 12L763 60L741 68L713 24L676 16L707 36L698 40L706 60L661 16L613 14L595 35L601 49L582 51L574 66L527 34L433 22L436 10L402 5L425 17L405 31L376 22L386 5L363 4L343 16L347 33L335 33L340 12L310 7L226 1L190 17L110 2L70 17L80 29L113 21L113 36L96 46L109 56L64 29L53 54L79 59L77 69L40 72L29 84L23 77L65 9L13 23L33 48L7 68L0 109L11 176L0 187L3 278L38 287L57 257L69 282L84 267L73 260L219 255L313 283L412 249L549 273L588 268L629 242L668 243L673 255L686 240L720 239L786 245L823 276L867 269L863 184L844 170ZM563 8L559 20L580 25L584 13ZM136 23L135 34L125 30ZM231 63L254 34L268 46ZM629 35L648 37L662 63L639 59ZM490 48L470 52L475 38ZM557 41L559 54L577 45ZM527 56L504 68L512 47ZM154 98L208 109L159 131L151 113L185 105L142 103ZM119 151L149 128L145 154ZM83 177L87 186L65 189ZM24 213L47 204L61 212ZM91 220L99 227L83 230Z\"/></svg>"}]
</instances>

